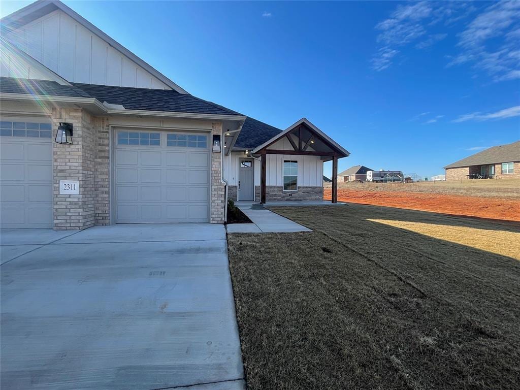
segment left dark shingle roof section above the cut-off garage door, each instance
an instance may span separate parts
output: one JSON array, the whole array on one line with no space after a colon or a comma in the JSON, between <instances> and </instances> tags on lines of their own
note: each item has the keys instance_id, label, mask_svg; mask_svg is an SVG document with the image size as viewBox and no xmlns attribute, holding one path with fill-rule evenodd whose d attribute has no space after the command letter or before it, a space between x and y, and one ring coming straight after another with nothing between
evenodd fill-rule
<instances>
[{"instance_id":1,"label":"left dark shingle roof section above the cut-off garage door","mask_svg":"<svg viewBox=\"0 0 520 390\"><path fill-rule=\"evenodd\" d=\"M31 94L46 96L91 97L84 90L55 81L15 79L0 77L0 92L10 94Z\"/></svg>"}]
</instances>

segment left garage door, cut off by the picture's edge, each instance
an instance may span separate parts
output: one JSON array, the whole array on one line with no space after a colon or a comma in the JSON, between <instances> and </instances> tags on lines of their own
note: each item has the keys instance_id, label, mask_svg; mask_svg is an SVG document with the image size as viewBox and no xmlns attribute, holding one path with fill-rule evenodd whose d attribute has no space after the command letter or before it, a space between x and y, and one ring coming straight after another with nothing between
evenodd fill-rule
<instances>
[{"instance_id":1,"label":"left garage door, cut off by the picture's edge","mask_svg":"<svg viewBox=\"0 0 520 390\"><path fill-rule=\"evenodd\" d=\"M53 226L53 145L46 119L0 122L2 228Z\"/></svg>"}]
</instances>

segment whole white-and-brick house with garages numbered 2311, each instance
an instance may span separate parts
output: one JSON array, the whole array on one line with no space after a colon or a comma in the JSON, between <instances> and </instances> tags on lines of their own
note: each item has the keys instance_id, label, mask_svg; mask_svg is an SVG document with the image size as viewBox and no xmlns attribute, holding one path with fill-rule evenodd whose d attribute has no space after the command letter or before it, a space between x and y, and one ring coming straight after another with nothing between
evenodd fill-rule
<instances>
[{"instance_id":1,"label":"whole white-and-brick house with garages numbered 2311","mask_svg":"<svg viewBox=\"0 0 520 390\"><path fill-rule=\"evenodd\" d=\"M2 227L226 219L227 199L322 199L349 152L189 94L59 1L2 19Z\"/></svg>"}]
</instances>

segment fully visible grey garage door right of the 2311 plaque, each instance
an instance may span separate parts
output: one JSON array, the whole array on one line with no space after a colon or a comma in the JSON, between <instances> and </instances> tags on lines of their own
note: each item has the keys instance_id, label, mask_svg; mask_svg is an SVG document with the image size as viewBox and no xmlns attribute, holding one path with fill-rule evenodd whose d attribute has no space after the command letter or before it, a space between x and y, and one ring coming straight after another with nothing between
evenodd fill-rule
<instances>
[{"instance_id":1,"label":"fully visible grey garage door right of the 2311 plaque","mask_svg":"<svg viewBox=\"0 0 520 390\"><path fill-rule=\"evenodd\" d=\"M207 134L116 131L116 223L209 222Z\"/></svg>"}]
</instances>

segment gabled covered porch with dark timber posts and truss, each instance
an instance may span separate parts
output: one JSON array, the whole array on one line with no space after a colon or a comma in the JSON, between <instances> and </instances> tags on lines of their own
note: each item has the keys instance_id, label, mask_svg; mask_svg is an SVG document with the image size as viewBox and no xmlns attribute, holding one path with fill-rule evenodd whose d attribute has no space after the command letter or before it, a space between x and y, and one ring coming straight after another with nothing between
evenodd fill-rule
<instances>
[{"instance_id":1,"label":"gabled covered porch with dark timber posts and truss","mask_svg":"<svg viewBox=\"0 0 520 390\"><path fill-rule=\"evenodd\" d=\"M337 160L348 157L349 154L346 149L307 119L297 121L250 152L251 157L261 162L260 203L288 200L318 201L314 199L315 190L305 186L305 183L302 185L301 181L314 165L319 166L321 171L319 187L322 197L323 162L327 161L332 161L331 202L337 203ZM307 171L302 173L302 170ZM318 172L313 171L312 174ZM276 181L274 177L279 175L281 175L281 187L273 185Z\"/></svg>"}]
</instances>

